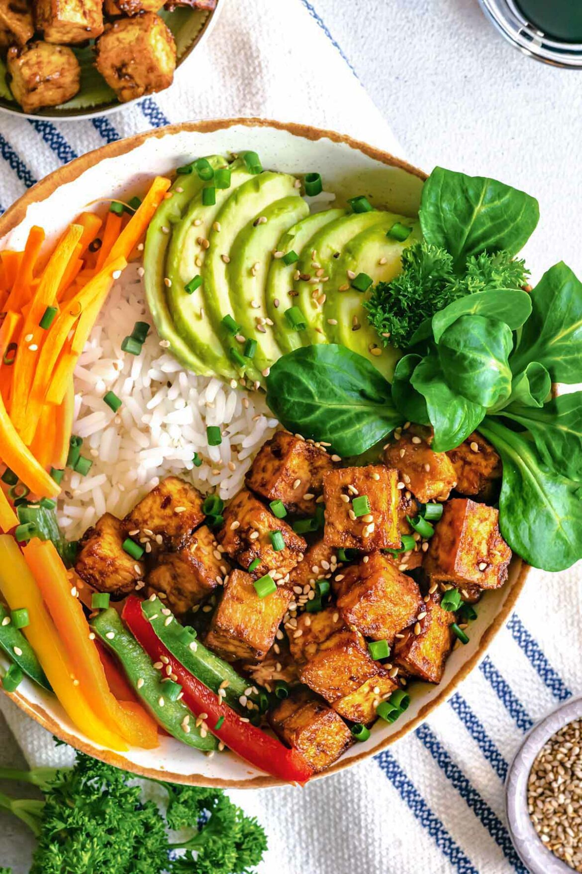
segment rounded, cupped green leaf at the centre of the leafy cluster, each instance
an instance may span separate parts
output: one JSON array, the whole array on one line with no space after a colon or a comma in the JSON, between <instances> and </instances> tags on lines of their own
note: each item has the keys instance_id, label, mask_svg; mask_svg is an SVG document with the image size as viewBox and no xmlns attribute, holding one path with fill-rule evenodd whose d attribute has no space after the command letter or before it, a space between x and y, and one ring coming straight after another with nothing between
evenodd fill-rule
<instances>
[{"instance_id":1,"label":"rounded, cupped green leaf at the centre of the leafy cluster","mask_svg":"<svg viewBox=\"0 0 582 874\"><path fill-rule=\"evenodd\" d=\"M460 316L442 334L439 359L448 385L489 407L511 392L511 329L497 319Z\"/></svg>"}]
</instances>

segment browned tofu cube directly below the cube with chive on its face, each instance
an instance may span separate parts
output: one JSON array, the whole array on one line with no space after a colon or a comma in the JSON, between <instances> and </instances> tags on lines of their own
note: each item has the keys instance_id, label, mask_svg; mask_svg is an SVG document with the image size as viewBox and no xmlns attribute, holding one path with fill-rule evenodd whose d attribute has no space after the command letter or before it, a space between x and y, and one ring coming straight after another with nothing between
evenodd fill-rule
<instances>
[{"instance_id":1,"label":"browned tofu cube directly below the cube with chive on its face","mask_svg":"<svg viewBox=\"0 0 582 874\"><path fill-rule=\"evenodd\" d=\"M424 602L414 579L401 573L382 552L372 552L351 573L338 598L338 609L346 625L373 641L387 640L414 625Z\"/></svg>"}]
</instances>

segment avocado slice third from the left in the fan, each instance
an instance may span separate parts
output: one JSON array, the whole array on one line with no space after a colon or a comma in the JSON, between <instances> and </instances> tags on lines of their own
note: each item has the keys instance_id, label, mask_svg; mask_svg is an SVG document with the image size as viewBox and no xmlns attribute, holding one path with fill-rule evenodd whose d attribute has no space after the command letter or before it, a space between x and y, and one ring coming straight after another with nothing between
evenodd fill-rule
<instances>
[{"instance_id":1,"label":"avocado slice third from the left in the fan","mask_svg":"<svg viewBox=\"0 0 582 874\"><path fill-rule=\"evenodd\" d=\"M230 193L216 214L218 224L213 224L209 231L209 248L202 264L204 302L215 333L223 341L223 360L229 360L232 346L232 337L221 323L231 309L227 264L236 236L250 221L258 223L264 210L274 201L297 195L295 181L295 177L286 173L270 171L253 176ZM259 371L255 370L253 374L248 366L243 370L249 378L260 381Z\"/></svg>"}]
</instances>

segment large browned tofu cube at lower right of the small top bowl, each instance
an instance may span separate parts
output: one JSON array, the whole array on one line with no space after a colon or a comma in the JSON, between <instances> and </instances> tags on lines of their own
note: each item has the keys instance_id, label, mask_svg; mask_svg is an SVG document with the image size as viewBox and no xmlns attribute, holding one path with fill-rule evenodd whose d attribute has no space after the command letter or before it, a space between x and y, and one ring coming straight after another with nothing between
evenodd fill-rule
<instances>
[{"instance_id":1,"label":"large browned tofu cube at lower right of the small top bowl","mask_svg":"<svg viewBox=\"0 0 582 874\"><path fill-rule=\"evenodd\" d=\"M153 12L107 24L96 47L97 69L122 103L162 91L174 80L174 37Z\"/></svg>"}]
</instances>

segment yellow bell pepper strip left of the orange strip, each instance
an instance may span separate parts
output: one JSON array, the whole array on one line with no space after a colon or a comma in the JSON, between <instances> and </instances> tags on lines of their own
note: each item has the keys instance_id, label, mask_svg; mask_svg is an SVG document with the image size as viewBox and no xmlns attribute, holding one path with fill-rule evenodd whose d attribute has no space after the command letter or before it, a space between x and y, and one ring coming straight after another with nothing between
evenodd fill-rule
<instances>
[{"instance_id":1,"label":"yellow bell pepper strip left of the orange strip","mask_svg":"<svg viewBox=\"0 0 582 874\"><path fill-rule=\"evenodd\" d=\"M120 753L127 743L92 711L80 690L73 663L49 616L22 552L10 535L0 536L0 591L10 609L25 607L29 624L24 636L38 656L49 683L72 724L94 743ZM69 595L71 597L71 595Z\"/></svg>"}]
</instances>

